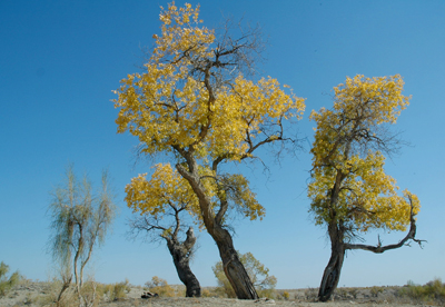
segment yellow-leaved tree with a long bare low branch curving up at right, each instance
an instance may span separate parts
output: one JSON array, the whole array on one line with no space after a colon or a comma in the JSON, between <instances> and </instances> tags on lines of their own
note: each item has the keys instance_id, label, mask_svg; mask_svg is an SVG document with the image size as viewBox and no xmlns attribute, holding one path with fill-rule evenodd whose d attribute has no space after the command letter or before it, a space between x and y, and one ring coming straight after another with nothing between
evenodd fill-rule
<instances>
[{"instance_id":1,"label":"yellow-leaved tree with a long bare low branch curving up at right","mask_svg":"<svg viewBox=\"0 0 445 307\"><path fill-rule=\"evenodd\" d=\"M313 143L308 196L317 225L326 225L332 256L324 271L318 298L326 301L337 287L346 250L384 252L415 239L421 205L409 191L397 194L396 180L384 171L384 154L397 150L399 140L389 125L408 105L403 80L356 76L334 88L334 108L313 111L317 123ZM382 246L354 244L369 229L406 230L398 242Z\"/></svg>"}]
</instances>

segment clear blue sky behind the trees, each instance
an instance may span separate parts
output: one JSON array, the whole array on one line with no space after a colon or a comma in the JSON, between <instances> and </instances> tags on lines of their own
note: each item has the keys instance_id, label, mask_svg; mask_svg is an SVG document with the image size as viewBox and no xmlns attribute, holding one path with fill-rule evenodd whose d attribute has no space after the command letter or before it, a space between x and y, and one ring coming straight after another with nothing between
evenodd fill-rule
<instances>
[{"instance_id":1,"label":"clear blue sky behind the trees","mask_svg":"<svg viewBox=\"0 0 445 307\"><path fill-rule=\"evenodd\" d=\"M137 139L116 133L117 110L110 102L119 80L139 71L140 48L151 47L152 34L159 33L159 6L167 2L0 1L0 260L12 270L40 280L53 274L46 254L46 208L49 191L73 162L96 182L108 167L120 207L112 235L92 260L96 279L142 285L159 276L180 283L164 245L126 239L131 212L123 188L149 171L150 161L135 166ZM307 214L314 127L308 116L332 106L330 90L346 76L400 73L413 99L395 129L412 146L386 169L402 189L419 197L417 237L428 244L383 255L348 252L339 286L444 280L445 2L201 1L207 27L222 16L260 23L269 41L260 68L307 98L298 123L307 137L305 150L297 159L285 157L280 166L270 162L268 178L260 166L246 172L267 216L237 222L236 248L264 263L278 288L318 287L330 250L325 229ZM385 235L384 242L404 235ZM375 244L377 232L367 238ZM216 285L217 247L206 232L199 245L192 270L202 286Z\"/></svg>"}]
</instances>

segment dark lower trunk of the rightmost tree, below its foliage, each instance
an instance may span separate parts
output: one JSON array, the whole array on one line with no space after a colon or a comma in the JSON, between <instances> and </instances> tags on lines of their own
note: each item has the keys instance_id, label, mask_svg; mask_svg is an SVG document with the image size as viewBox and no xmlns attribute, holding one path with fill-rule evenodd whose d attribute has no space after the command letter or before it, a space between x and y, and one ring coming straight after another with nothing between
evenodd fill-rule
<instances>
[{"instance_id":1,"label":"dark lower trunk of the rightmost tree, below its foliage","mask_svg":"<svg viewBox=\"0 0 445 307\"><path fill-rule=\"evenodd\" d=\"M344 231L337 225L329 225L330 237L330 259L323 274L322 284L318 290L318 300L327 301L337 288L338 280L345 258L345 244L343 241Z\"/></svg>"}]
</instances>

